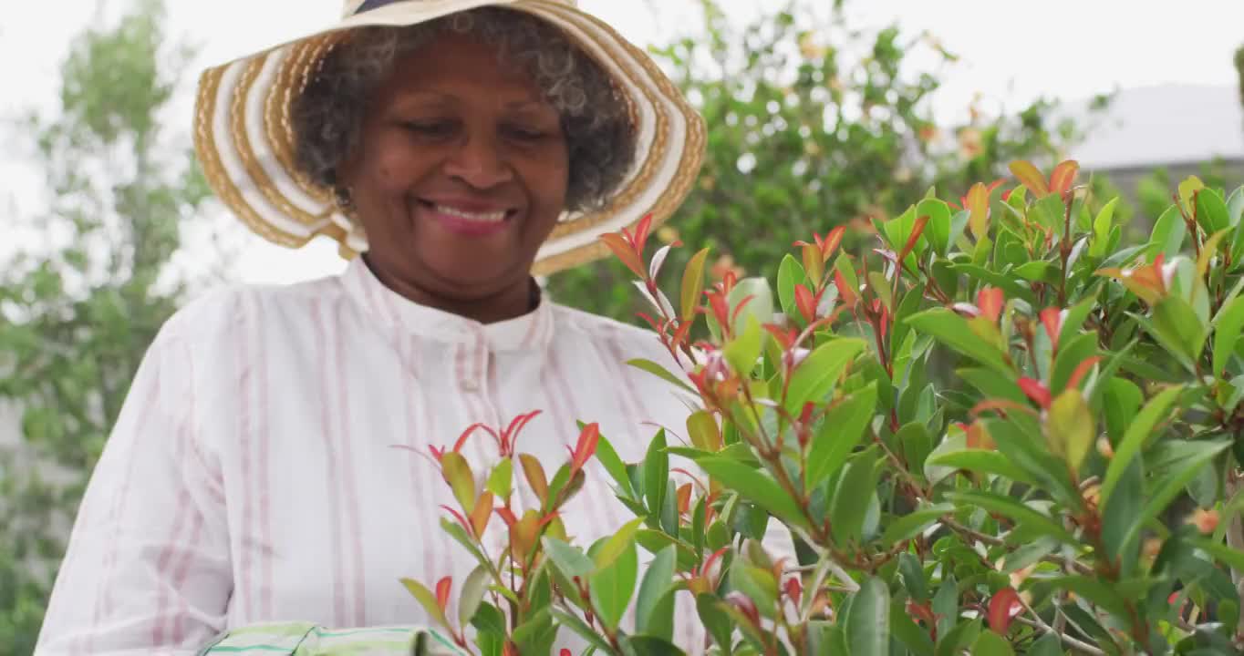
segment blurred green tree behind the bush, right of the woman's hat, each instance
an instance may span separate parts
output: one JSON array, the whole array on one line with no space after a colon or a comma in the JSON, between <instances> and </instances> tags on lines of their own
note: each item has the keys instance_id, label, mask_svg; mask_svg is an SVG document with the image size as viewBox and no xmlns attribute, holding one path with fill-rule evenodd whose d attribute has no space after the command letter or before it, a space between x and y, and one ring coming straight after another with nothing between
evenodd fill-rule
<instances>
[{"instance_id":1,"label":"blurred green tree behind the bush, right of the woman's hat","mask_svg":"<svg viewBox=\"0 0 1244 656\"><path fill-rule=\"evenodd\" d=\"M986 111L978 101L959 124L939 125L931 101L955 55L932 35L852 29L841 1L787 0L748 25L714 0L700 5L703 34L654 50L709 129L699 186L659 235L688 246L671 255L672 276L707 246L722 257L718 272L773 276L794 240L838 225L862 239L873 219L902 211L933 185L957 196L1008 175L1014 159L1060 159L1081 137L1046 101L1019 112ZM643 308L628 280L606 261L559 273L550 292L633 321Z\"/></svg>"}]
</instances>

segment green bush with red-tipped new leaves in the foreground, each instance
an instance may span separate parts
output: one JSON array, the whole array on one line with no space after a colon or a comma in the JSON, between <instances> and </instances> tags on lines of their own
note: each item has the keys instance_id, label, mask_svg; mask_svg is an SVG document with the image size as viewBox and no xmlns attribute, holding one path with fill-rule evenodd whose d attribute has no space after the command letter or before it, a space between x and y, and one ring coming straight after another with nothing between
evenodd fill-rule
<instances>
[{"instance_id":1,"label":"green bush with red-tipped new leaves in the foreground","mask_svg":"<svg viewBox=\"0 0 1244 656\"><path fill-rule=\"evenodd\" d=\"M448 579L412 593L486 655L550 654L559 631L682 654L677 595L723 655L1238 652L1244 188L1188 179L1128 245L1075 162L1010 169L877 222L866 252L812 235L774 285L707 285L700 251L667 296L677 245L605 237L682 370L631 364L700 400L688 442L658 432L627 463L588 424L549 480L515 453L532 415L469 429L434 457L479 568L457 609ZM479 430L503 460L476 477L458 450ZM592 457L636 518L576 545L559 511ZM542 506L518 517L520 482Z\"/></svg>"}]
</instances>

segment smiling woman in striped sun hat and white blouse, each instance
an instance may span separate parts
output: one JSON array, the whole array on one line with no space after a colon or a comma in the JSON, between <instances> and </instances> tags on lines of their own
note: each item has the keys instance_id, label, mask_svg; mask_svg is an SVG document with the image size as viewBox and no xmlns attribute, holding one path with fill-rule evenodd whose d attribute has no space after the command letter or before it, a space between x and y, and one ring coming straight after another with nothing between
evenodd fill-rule
<instances>
[{"instance_id":1,"label":"smiling woman in striped sun hat and white blouse","mask_svg":"<svg viewBox=\"0 0 1244 656\"><path fill-rule=\"evenodd\" d=\"M347 1L332 30L209 70L195 128L208 180L254 231L335 239L350 263L168 322L91 480L39 654L424 622L398 579L471 560L438 528L452 497L437 471L393 445L427 452L541 410L520 449L552 467L577 420L629 460L653 424L684 421L623 364L662 359L653 335L560 307L532 277L668 216L703 147L657 67L567 0ZM564 518L583 540L628 518L606 480L591 471Z\"/></svg>"}]
</instances>

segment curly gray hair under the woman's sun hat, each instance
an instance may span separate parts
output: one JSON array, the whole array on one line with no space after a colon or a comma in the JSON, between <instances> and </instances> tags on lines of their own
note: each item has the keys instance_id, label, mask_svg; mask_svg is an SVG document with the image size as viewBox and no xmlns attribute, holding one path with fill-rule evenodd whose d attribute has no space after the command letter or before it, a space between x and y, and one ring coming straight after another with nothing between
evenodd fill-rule
<instances>
[{"instance_id":1,"label":"curly gray hair under the woman's sun hat","mask_svg":"<svg viewBox=\"0 0 1244 656\"><path fill-rule=\"evenodd\" d=\"M634 158L636 127L608 73L540 19L480 7L409 27L361 27L321 62L294 99L296 163L312 181L336 188L337 166L358 145L367 99L402 56L454 32L496 46L501 62L526 70L561 114L570 154L566 209L600 207Z\"/></svg>"}]
</instances>

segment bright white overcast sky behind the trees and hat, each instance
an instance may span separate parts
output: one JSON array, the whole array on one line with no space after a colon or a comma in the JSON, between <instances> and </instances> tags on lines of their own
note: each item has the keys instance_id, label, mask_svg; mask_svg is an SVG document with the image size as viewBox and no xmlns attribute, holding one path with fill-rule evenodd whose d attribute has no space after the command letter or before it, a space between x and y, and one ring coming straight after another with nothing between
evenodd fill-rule
<instances>
[{"instance_id":1,"label":"bright white overcast sky behind the trees and hat","mask_svg":"<svg viewBox=\"0 0 1244 656\"><path fill-rule=\"evenodd\" d=\"M10 0L11 2L12 0ZM775 0L720 0L740 19ZM829 0L814 0L829 2ZM128 0L21 2L0 15L0 113L52 107L57 66L70 39ZM167 0L174 36L202 47L200 63L226 61L330 24L340 0ZM580 0L641 45L694 24L694 0ZM974 93L1014 107L1036 96L1085 98L1115 87L1163 83L1234 86L1232 55L1244 45L1244 0L848 0L852 25L898 21L928 30L962 56L939 96L954 113ZM98 5L98 6L97 6ZM102 9L101 9L102 7ZM183 98L187 108L189 99ZM1192 109L1192 108L1189 108ZM0 157L0 203L30 181ZM6 184L17 189L5 189ZM2 219L0 219L2 225ZM335 248L285 252L250 242L240 263L246 281L290 281L335 271Z\"/></svg>"}]
</instances>

